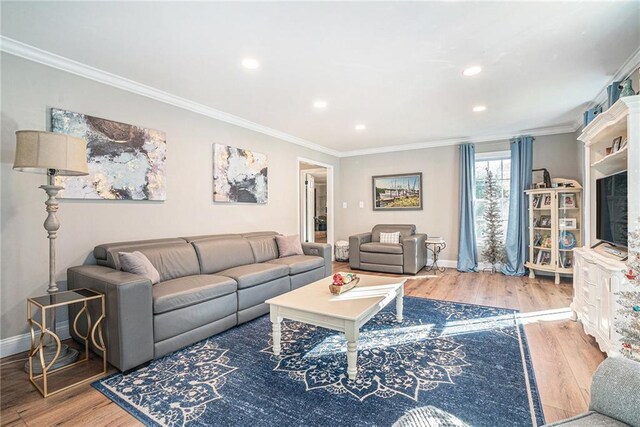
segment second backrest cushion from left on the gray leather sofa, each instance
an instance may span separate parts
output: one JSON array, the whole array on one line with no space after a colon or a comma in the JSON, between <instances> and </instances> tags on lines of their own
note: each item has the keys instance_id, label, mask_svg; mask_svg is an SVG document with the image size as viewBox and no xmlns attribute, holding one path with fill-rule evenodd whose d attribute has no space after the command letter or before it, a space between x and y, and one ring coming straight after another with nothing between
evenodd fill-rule
<instances>
[{"instance_id":1,"label":"second backrest cushion from left on the gray leather sofa","mask_svg":"<svg viewBox=\"0 0 640 427\"><path fill-rule=\"evenodd\" d=\"M200 260L202 274L217 273L239 265L253 264L253 251L247 239L234 237L192 242Z\"/></svg>"}]
</instances>

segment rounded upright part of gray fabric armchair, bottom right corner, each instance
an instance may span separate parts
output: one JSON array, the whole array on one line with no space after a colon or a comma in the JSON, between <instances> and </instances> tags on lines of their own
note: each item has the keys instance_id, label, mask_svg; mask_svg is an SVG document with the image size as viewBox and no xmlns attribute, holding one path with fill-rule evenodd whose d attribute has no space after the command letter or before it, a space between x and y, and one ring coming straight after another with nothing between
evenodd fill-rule
<instances>
[{"instance_id":1,"label":"rounded upright part of gray fabric armchair, bottom right corner","mask_svg":"<svg viewBox=\"0 0 640 427\"><path fill-rule=\"evenodd\" d=\"M640 426L640 363L622 356L609 357L591 380L589 410Z\"/></svg>"}]
</instances>

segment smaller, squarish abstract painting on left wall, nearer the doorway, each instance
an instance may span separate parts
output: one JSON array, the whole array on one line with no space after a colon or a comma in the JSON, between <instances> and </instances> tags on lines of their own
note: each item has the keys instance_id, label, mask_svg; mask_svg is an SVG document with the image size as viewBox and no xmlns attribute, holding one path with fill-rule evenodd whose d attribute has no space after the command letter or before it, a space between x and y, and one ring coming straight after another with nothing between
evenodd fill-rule
<instances>
[{"instance_id":1,"label":"smaller, squarish abstract painting on left wall, nearer the doorway","mask_svg":"<svg viewBox=\"0 0 640 427\"><path fill-rule=\"evenodd\" d=\"M267 156L213 144L213 201L267 203Z\"/></svg>"}]
</instances>

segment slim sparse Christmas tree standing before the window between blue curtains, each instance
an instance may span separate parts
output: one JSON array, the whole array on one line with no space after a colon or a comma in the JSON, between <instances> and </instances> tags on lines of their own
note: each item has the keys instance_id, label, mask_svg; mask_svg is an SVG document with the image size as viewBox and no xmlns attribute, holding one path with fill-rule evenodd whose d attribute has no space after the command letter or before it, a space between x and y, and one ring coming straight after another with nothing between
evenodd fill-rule
<instances>
[{"instance_id":1,"label":"slim sparse Christmas tree standing before the window between blue curtains","mask_svg":"<svg viewBox=\"0 0 640 427\"><path fill-rule=\"evenodd\" d=\"M496 271L496 264L504 259L504 241L502 232L502 212L500 211L500 199L498 198L498 188L493 173L487 168L487 179L485 181L485 200L487 205L482 215L484 219L484 247L482 257L491 264L491 272Z\"/></svg>"}]
</instances>

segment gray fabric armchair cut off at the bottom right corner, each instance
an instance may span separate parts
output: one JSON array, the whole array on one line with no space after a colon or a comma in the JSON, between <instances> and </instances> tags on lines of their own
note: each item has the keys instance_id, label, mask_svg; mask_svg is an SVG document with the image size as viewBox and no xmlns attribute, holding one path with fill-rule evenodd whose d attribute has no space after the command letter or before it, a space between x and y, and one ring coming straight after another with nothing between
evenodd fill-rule
<instances>
[{"instance_id":1,"label":"gray fabric armchair cut off at the bottom right corner","mask_svg":"<svg viewBox=\"0 0 640 427\"><path fill-rule=\"evenodd\" d=\"M551 426L640 426L640 363L610 357L591 380L589 411Z\"/></svg>"}]
</instances>

